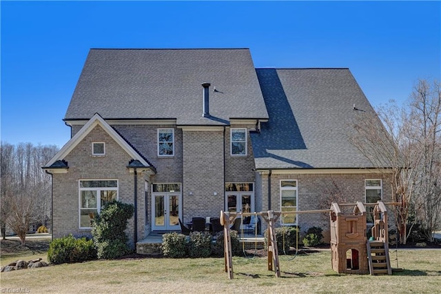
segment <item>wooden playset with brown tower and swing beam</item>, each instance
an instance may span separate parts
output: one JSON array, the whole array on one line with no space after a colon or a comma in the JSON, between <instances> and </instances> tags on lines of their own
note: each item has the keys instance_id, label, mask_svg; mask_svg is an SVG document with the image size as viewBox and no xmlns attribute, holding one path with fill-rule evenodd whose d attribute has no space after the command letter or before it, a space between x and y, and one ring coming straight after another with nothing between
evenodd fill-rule
<instances>
[{"instance_id":1,"label":"wooden playset with brown tower and swing beam","mask_svg":"<svg viewBox=\"0 0 441 294\"><path fill-rule=\"evenodd\" d=\"M396 202L387 203L399 205ZM372 237L367 240L367 210L373 206ZM347 208L353 207L349 212ZM343 210L343 212L342 212ZM274 271L276 277L280 277L280 264L274 228L280 215L306 214L306 213L329 213L331 226L331 264L337 273L348 274L388 274L391 275L389 260L387 209L383 202L356 204L332 203L328 210L300 210L300 211L273 211L261 213L228 213L220 211L220 224L224 229L224 257L225 272L229 279L233 278L232 244L229 235L230 226L234 224L236 217L260 215L267 223L268 238L268 270Z\"/></svg>"}]
</instances>

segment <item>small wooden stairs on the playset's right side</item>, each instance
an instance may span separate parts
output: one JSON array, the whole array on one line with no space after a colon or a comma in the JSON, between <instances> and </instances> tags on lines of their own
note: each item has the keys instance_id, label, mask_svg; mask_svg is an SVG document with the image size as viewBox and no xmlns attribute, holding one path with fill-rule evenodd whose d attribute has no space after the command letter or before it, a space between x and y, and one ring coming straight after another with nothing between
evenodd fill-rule
<instances>
[{"instance_id":1,"label":"small wooden stairs on the playset's right side","mask_svg":"<svg viewBox=\"0 0 441 294\"><path fill-rule=\"evenodd\" d=\"M369 259L369 271L371 275L392 275L389 245L386 242L368 241L367 258Z\"/></svg>"}]
</instances>

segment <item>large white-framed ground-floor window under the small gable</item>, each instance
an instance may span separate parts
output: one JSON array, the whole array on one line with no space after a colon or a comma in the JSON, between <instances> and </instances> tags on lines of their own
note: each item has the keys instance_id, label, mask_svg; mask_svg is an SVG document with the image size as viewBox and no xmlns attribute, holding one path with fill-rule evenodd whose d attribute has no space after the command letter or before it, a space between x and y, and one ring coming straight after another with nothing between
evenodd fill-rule
<instances>
[{"instance_id":1,"label":"large white-framed ground-floor window under the small gable","mask_svg":"<svg viewBox=\"0 0 441 294\"><path fill-rule=\"evenodd\" d=\"M118 181L79 181L79 227L90 228L96 213L108 202L118 199Z\"/></svg>"}]
</instances>

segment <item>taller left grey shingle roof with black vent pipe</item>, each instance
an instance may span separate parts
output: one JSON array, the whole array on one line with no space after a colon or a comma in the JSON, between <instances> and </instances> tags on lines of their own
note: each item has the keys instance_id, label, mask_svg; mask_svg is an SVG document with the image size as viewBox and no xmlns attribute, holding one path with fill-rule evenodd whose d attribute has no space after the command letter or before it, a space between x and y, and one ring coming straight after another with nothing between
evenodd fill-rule
<instances>
[{"instance_id":1,"label":"taller left grey shingle roof with black vent pipe","mask_svg":"<svg viewBox=\"0 0 441 294\"><path fill-rule=\"evenodd\" d=\"M203 82L212 84L212 119L202 117ZM95 112L104 119L176 119L178 125L268 117L248 49L92 49L65 120Z\"/></svg>"}]
</instances>

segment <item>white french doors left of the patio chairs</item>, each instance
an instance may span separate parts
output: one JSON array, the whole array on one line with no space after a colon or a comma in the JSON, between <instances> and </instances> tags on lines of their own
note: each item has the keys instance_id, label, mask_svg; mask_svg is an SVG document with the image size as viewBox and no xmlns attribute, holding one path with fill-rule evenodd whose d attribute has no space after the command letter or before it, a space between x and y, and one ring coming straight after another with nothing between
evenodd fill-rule
<instances>
[{"instance_id":1,"label":"white french doors left of the patio chairs","mask_svg":"<svg viewBox=\"0 0 441 294\"><path fill-rule=\"evenodd\" d=\"M181 193L152 193L152 230L178 230L181 202Z\"/></svg>"}]
</instances>

